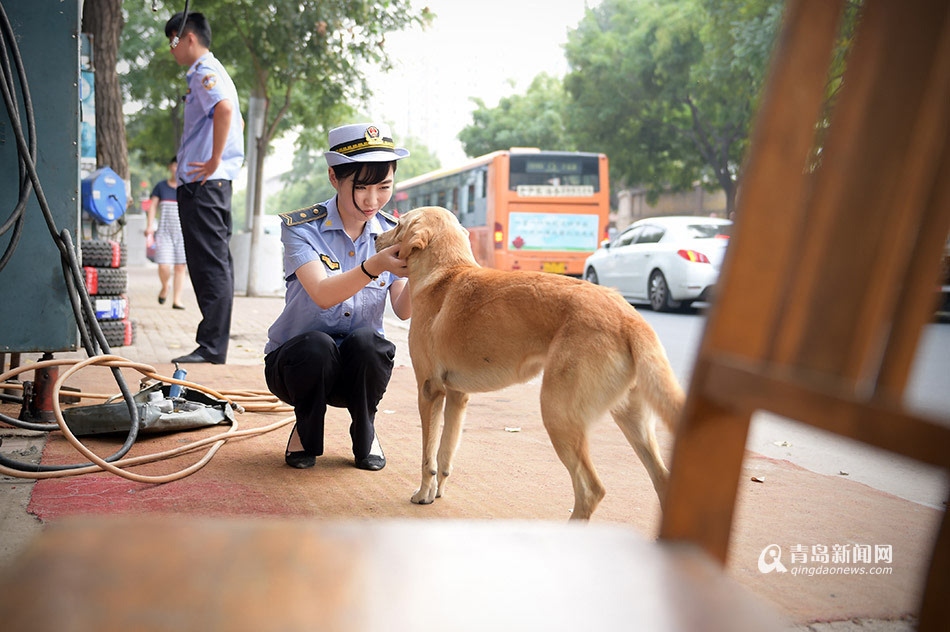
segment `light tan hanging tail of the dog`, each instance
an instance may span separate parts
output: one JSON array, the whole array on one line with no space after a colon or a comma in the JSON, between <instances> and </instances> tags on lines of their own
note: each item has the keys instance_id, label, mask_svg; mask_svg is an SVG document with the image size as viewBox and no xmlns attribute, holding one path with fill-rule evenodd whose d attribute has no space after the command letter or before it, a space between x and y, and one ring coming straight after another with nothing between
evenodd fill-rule
<instances>
[{"instance_id":1,"label":"light tan hanging tail of the dog","mask_svg":"<svg viewBox=\"0 0 950 632\"><path fill-rule=\"evenodd\" d=\"M675 432L686 395L680 386L666 350L653 328L640 319L628 336L630 352L637 367L636 387L650 408Z\"/></svg>"}]
</instances>

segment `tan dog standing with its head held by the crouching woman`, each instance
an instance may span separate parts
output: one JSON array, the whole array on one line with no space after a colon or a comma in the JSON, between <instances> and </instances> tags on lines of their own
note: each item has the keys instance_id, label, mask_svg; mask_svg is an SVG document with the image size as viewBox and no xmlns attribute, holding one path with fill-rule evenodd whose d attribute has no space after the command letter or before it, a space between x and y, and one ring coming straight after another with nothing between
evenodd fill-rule
<instances>
[{"instance_id":1,"label":"tan dog standing with its head held by the crouching woman","mask_svg":"<svg viewBox=\"0 0 950 632\"><path fill-rule=\"evenodd\" d=\"M541 417L574 484L571 517L590 518L604 497L587 431L608 410L662 501L669 472L650 411L672 429L683 390L656 332L620 294L570 277L482 268L444 208L406 213L376 240L377 250L393 244L409 270L409 353L422 417L422 484L412 502L445 492L469 393L525 382L542 369Z\"/></svg>"}]
</instances>

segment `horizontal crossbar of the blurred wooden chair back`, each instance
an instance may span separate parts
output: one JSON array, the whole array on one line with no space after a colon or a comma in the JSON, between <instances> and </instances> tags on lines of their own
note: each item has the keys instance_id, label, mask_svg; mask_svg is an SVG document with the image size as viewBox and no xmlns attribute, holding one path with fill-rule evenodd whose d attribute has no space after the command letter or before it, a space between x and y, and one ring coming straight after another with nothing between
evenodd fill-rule
<instances>
[{"instance_id":1,"label":"horizontal crossbar of the blurred wooden chair back","mask_svg":"<svg viewBox=\"0 0 950 632\"><path fill-rule=\"evenodd\" d=\"M809 376L811 379L809 379ZM710 362L704 396L735 414L768 410L938 467L950 468L950 420L907 412L897 400L861 400L848 382L739 358Z\"/></svg>"}]
</instances>

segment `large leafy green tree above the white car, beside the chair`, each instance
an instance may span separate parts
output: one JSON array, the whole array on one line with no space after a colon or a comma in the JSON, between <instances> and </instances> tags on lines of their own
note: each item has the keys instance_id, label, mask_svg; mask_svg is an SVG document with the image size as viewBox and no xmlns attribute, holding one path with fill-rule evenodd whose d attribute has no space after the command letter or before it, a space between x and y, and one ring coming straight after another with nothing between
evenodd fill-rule
<instances>
[{"instance_id":1,"label":"large leafy green tree above the white car, beside the chair","mask_svg":"<svg viewBox=\"0 0 950 632\"><path fill-rule=\"evenodd\" d=\"M604 0L568 36L571 129L618 184L736 183L784 2Z\"/></svg>"}]
</instances>

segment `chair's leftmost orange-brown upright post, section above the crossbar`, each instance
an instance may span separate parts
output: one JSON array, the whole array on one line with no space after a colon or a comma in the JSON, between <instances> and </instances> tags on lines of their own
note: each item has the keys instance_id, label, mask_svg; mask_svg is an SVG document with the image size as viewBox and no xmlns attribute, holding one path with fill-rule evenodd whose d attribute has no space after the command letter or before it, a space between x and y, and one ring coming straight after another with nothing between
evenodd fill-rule
<instances>
[{"instance_id":1,"label":"chair's leftmost orange-brown upright post, section above the crossbar","mask_svg":"<svg viewBox=\"0 0 950 632\"><path fill-rule=\"evenodd\" d=\"M790 1L759 107L718 297L703 346L761 357L797 264L804 175L842 2Z\"/></svg>"}]
</instances>

